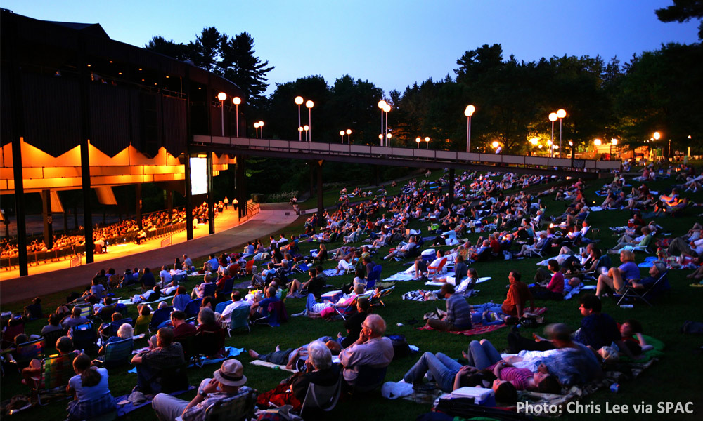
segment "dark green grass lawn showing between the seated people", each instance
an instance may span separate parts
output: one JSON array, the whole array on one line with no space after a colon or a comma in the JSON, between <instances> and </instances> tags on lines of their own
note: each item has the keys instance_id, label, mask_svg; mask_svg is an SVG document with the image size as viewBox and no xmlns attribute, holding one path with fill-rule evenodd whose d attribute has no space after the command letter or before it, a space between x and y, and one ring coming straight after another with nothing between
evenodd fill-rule
<instances>
[{"instance_id":1,"label":"dark green grass lawn showing between the seated people","mask_svg":"<svg viewBox=\"0 0 703 421\"><path fill-rule=\"evenodd\" d=\"M439 171L434 171L433 178L439 176ZM593 192L597 187L602 186L605 180L594 180L589 182L589 187L586 189L586 197L592 201L600 201ZM668 192L671 182L661 181L651 183L650 188L659 190L660 193ZM350 186L353 189L353 186ZM336 195L337 192L332 192ZM392 190L389 189L389 194ZM693 201L703 202L703 193L684 194ZM314 199L314 198L313 198ZM335 198L336 199L336 198ZM565 202L555 202L547 199L548 215L557 215L564 210ZM325 203L326 205L327 203ZM680 218L671 218L669 216L657 218L657 223L662 225L667 231L673 232L673 236L678 236L686 232L694 222L702 220L697 214L701 213L703 208L688 208L684 215ZM610 229L607 227L616 225L626 225L626 221L630 218L627 211L606 210L598 213L592 213L589 216L593 227L600 228L600 232L596 238L602 240L600 246L602 248L610 248L615 243L614 236L611 235ZM287 227L284 231L287 235L291 233L302 232L304 218L299 218L294 225ZM426 229L427 224L415 222L415 228ZM411 225L412 226L412 225ZM475 241L479 234L470 234L469 238ZM670 238L673 238L671 236ZM340 246L341 242L328 244L328 249L331 250ZM240 250L242 245L232 244L227 245L228 250ZM302 243L302 253L307 253L310 248L317 248L317 243ZM380 258L387 253L387 248L382 249L380 253L374 256L375 262L380 262ZM637 262L643 261L645 255L639 253ZM616 258L617 260L617 258ZM195 265L202 265L205 258L194 260ZM517 270L522 272L523 279L530 282L536 270L536 259L512 260L510 262L495 261L481 262L472 267L475 267L479 272L479 276L491 276L491 281L481 283L477 288L480 293L474 298L470 298L472 303L482 302L502 302L505 298L506 286L508 285L508 272ZM382 262L383 272L382 277L390 276L402 269L406 269L406 262ZM333 262L327 262L324 267L334 267ZM645 270L642 271L645 274ZM654 406L653 415L618 415L618 419L700 419L700 414L703 410L702 388L700 379L702 378L703 364L700 363L700 354L695 354L695 350L701 346L701 338L699 336L683 335L680 333L681 325L686 320L702 320L702 312L700 302L703 298L703 288L690 288L690 281L685 278L685 275L690 271L672 271L669 276L671 283L671 292L658 302L653 308L646 305L636 305L633 309L621 309L615 306L615 302L611 299L606 299L603 303L603 311L614 317L617 321L625 319L639 319L645 328L647 335L652 335L659 338L666 344L666 356L661 361L654 363L652 368L645 371L637 380L623 382L620 385L618 394L613 394L610 391L600 391L591 396L587 396L581 403L591 403L600 405L602 412L598 415L564 415L567 420L591 420L610 417L606 415L605 403L611 406L613 403L618 404L639 404L641 402L649 403ZM298 277L303 277L299 275ZM307 277L306 277L307 279ZM195 285L195 278L186 283L187 287ZM200 279L197 279L199 282ZM328 283L333 286L340 286L342 283L352 281L352 275L331 277ZM87 283L87 281L86 281ZM408 325L406 321L411 319L422 320L425 312L429 312L434 307L444 307L443 302L411 302L401 300L401 295L408 290L416 290L423 288L424 285L418 281L399 282L396 283L396 290L385 300L386 306L377 308L378 312L387 322L387 333L401 333L406 335L408 343L420 348L420 352L444 352L455 358L460 357L460 352L467 348L470 340L479 340L481 338L467 338L462 335L453 335L450 333L439 333L434 331L415 330L414 326ZM117 291L115 295L127 297L134 294L133 290ZM67 292L56 293L44 297L44 311L48 312L56 308L58 304L65 301ZM28 302L16 303L15 305L6 305L3 311L21 310ZM545 302L538 301L540 307L548 307L546 312L546 321L548 323L565 322L577 328L581 323L581 315L578 312L578 300L572 299L564 302ZM300 312L304 308L303 299L290 298L286 300L289 314ZM130 309L128 316L136 317L136 308ZM398 326L402 323L404 326ZM46 321L38 320L27 323L26 330L29 333L38 333L41 326L44 326ZM252 333L236 333L232 338L226 340L226 345L233 347L242 347L245 349L255 349L257 352L269 352L276 345L281 347L297 347L304 343L314 340L322 335L336 336L337 332L342 330L341 321L323 321L320 319L307 319L298 317L291 319L287 324L280 328L269 328L268 326L254 326ZM541 333L541 328L524 329L523 335L531 335L533 331ZM492 333L486 334L485 338L503 349L507 346L505 335L508 333L507 328L498 329ZM144 346L146 341L138 343L138 346ZM400 380L402 375L410 368L417 359L417 355L409 356L404 359L394 361L389 366L387 372L387 380ZM247 376L248 385L255 387L259 392L264 392L276 386L280 380L287 377L288 373L280 373L269 368L260 368L248 364L251 360L247 354L239 357L240 361L245 363L245 375ZM699 361L699 362L696 362ZM211 377L212 371L216 366L206 366L205 368L193 368L189 372L192 385L198 385L198 382L203 377ZM136 375L126 373L126 368L118 368L110 372L110 389L113 396L127 394L136 384ZM15 394L27 394L29 389L20 385L19 376L16 373L6 373L3 378L2 387L0 389L1 399L9 399ZM191 399L194 392L181 395L181 399ZM657 403L660 401L692 401L695 403L695 415L662 415L657 414ZM65 406L67 401L59 401L51 403L48 406L42 406L31 410L26 410L18 414L15 419L21 420L63 420L65 418ZM359 408L359 404L363 404L363 409ZM430 410L429 406L420 405L410 401L389 401L382 399L380 392L376 392L371 396L362 399L342 399L335 411L330 416L335 420L359 420L360 414L368 414L371 420L414 420L417 415ZM697 417L696 417L697 415ZM150 407L136 410L127 417L131 420L155 420L155 415Z\"/></svg>"}]
</instances>

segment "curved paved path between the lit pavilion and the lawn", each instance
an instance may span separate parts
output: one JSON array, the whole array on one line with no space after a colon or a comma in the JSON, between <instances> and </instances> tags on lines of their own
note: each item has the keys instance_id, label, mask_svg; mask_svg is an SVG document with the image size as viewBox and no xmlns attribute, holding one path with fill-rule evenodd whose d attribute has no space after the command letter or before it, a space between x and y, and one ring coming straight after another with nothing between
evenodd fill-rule
<instances>
[{"instance_id":1,"label":"curved paved path between the lit pavilion and the lawn","mask_svg":"<svg viewBox=\"0 0 703 421\"><path fill-rule=\"evenodd\" d=\"M84 287L90 283L96 272L108 267L114 267L120 274L127 267L150 267L153 272L158 273L162 265L173 265L175 258L180 258L183 254L195 258L246 244L252 239L264 239L265 236L283 229L295 222L296 219L297 215L292 212L288 203L263 204L261 211L254 218L223 232L177 243L166 248L158 248L158 241L153 241L155 250L137 252L111 260L94 262L90 265L58 269L22 278L3 279L0 281L0 303L30 300L37 295Z\"/></svg>"}]
</instances>

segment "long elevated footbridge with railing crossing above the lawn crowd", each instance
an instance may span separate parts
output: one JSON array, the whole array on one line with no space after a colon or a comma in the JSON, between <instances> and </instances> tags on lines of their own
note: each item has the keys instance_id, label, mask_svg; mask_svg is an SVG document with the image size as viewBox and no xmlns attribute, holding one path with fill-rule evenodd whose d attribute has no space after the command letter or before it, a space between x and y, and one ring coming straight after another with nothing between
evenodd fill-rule
<instances>
[{"instance_id":1,"label":"long elevated footbridge with railing crossing above the lawn crowd","mask_svg":"<svg viewBox=\"0 0 703 421\"><path fill-rule=\"evenodd\" d=\"M550 158L548 156L523 156L506 154L480 154L436 149L408 147L382 147L368 145L342 145L339 143L298 142L297 140L273 140L252 138L227 138L221 136L195 135L193 141L200 145L229 145L233 149L255 151L309 153L325 155L359 156L363 158L401 159L408 161L435 161L438 163L476 163L498 166L535 166L579 170L588 172L612 171L620 168L620 161L596 161L594 159Z\"/></svg>"}]
</instances>

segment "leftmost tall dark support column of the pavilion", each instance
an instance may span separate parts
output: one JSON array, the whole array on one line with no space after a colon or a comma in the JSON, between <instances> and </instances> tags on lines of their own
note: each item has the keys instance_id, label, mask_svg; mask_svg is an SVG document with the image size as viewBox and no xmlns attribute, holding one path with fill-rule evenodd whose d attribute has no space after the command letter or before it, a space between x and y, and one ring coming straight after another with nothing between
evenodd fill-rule
<instances>
[{"instance_id":1,"label":"leftmost tall dark support column of the pavilion","mask_svg":"<svg viewBox=\"0 0 703 421\"><path fill-rule=\"evenodd\" d=\"M17 22L10 13L4 19L3 25L11 38L18 32ZM4 28L5 29L5 28ZM4 51L5 59L11 62L9 72L11 86L10 112L12 113L12 162L13 177L15 178L15 221L17 223L17 248L20 267L20 276L27 276L27 224L25 222L25 185L22 180L22 142L25 134L24 102L22 101L22 69L17 59L18 43L14 39L8 41L8 50ZM7 225L6 225L7 227Z\"/></svg>"}]
</instances>

